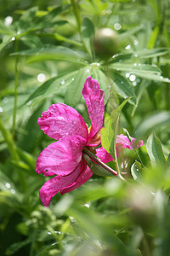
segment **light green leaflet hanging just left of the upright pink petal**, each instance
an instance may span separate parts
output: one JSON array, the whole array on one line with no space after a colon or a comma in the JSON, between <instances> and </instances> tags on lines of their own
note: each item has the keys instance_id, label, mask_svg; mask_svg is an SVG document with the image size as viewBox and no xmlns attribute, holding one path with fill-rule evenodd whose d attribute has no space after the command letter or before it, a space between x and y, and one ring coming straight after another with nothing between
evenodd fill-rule
<instances>
[{"instance_id":1,"label":"light green leaflet hanging just left of the upright pink petal","mask_svg":"<svg viewBox=\"0 0 170 256\"><path fill-rule=\"evenodd\" d=\"M89 75L88 68L83 68L72 77L72 82L65 93L65 104L75 108L82 99L82 88ZM76 90L75 90L76 89Z\"/></svg>"}]
</instances>

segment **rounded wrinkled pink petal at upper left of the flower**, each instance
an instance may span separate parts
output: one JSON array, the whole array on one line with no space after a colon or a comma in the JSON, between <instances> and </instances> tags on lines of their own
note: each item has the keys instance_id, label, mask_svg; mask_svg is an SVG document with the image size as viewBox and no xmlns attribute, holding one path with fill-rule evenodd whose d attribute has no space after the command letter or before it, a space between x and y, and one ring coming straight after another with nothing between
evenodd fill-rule
<instances>
[{"instance_id":1,"label":"rounded wrinkled pink petal at upper left of the flower","mask_svg":"<svg viewBox=\"0 0 170 256\"><path fill-rule=\"evenodd\" d=\"M53 104L37 120L42 131L55 140L61 137L79 135L88 138L88 127L76 109L63 103Z\"/></svg>"}]
</instances>

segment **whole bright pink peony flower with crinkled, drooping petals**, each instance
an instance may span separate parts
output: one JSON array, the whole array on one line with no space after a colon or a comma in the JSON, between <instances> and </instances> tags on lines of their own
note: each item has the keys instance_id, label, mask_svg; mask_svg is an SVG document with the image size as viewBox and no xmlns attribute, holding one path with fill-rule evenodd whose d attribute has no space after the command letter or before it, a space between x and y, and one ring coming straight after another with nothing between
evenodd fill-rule
<instances>
[{"instance_id":1,"label":"whole bright pink peony flower with crinkled, drooping petals","mask_svg":"<svg viewBox=\"0 0 170 256\"><path fill-rule=\"evenodd\" d=\"M99 89L99 83L88 77L82 89L82 96L91 119L90 129L82 119L82 115L64 103L51 105L37 121L48 137L57 140L43 149L37 158L36 172L43 173L45 176L54 176L44 183L39 191L42 204L45 207L48 207L51 198L59 190L63 195L77 189L93 175L83 158L82 149L88 147L89 150L92 150L93 146L100 144L105 95L104 91ZM132 142L133 140L135 139L132 138ZM132 143L123 135L117 137L117 143L121 144L122 148L133 149ZM139 143L136 148L141 145ZM96 155L104 163L112 160L111 155L103 147L96 149Z\"/></svg>"}]
</instances>

